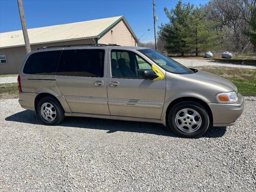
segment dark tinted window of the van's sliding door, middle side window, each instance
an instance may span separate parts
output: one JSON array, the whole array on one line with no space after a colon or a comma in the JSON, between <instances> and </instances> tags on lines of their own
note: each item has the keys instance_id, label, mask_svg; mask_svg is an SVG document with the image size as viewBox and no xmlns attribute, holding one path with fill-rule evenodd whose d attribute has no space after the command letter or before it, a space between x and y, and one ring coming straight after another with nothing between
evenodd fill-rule
<instances>
[{"instance_id":1,"label":"dark tinted window of the van's sliding door, middle side window","mask_svg":"<svg viewBox=\"0 0 256 192\"><path fill-rule=\"evenodd\" d=\"M103 77L104 50L64 50L58 64L57 75Z\"/></svg>"}]
</instances>

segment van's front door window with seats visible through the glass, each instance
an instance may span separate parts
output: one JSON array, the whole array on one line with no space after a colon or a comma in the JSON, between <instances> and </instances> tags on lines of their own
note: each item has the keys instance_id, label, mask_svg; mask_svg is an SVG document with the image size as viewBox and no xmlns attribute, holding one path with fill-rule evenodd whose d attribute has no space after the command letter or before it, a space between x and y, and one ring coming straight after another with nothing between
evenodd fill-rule
<instances>
[{"instance_id":1,"label":"van's front door window with seats visible through the glass","mask_svg":"<svg viewBox=\"0 0 256 192\"><path fill-rule=\"evenodd\" d=\"M151 69L151 66L134 52L112 50L112 77L141 78L143 69Z\"/></svg>"}]
</instances>

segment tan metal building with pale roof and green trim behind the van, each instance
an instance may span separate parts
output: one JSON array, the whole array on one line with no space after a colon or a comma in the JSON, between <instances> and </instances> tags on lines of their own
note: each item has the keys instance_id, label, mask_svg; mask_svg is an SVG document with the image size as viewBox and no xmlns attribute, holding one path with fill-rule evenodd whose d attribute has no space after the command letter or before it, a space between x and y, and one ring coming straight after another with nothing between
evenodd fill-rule
<instances>
[{"instance_id":1,"label":"tan metal building with pale roof and green trim behind the van","mask_svg":"<svg viewBox=\"0 0 256 192\"><path fill-rule=\"evenodd\" d=\"M28 29L31 50L66 44L136 46L137 38L124 16ZM22 30L0 33L0 74L17 73L26 56Z\"/></svg>"}]
</instances>

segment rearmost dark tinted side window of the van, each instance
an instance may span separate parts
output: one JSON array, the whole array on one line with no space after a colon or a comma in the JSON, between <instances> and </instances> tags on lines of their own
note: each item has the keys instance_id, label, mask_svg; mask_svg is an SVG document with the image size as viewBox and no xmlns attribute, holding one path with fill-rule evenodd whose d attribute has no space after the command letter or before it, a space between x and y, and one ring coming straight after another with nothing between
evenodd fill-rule
<instances>
[{"instance_id":1,"label":"rearmost dark tinted side window of the van","mask_svg":"<svg viewBox=\"0 0 256 192\"><path fill-rule=\"evenodd\" d=\"M61 51L44 51L33 53L25 63L25 74L56 75Z\"/></svg>"}]
</instances>

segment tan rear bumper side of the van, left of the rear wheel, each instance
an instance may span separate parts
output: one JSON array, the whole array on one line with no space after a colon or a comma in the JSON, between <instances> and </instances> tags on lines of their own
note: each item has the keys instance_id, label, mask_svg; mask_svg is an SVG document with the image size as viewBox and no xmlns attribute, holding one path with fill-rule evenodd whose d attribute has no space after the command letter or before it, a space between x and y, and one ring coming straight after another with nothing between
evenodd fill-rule
<instances>
[{"instance_id":1,"label":"tan rear bumper side of the van, left of the rear wheel","mask_svg":"<svg viewBox=\"0 0 256 192\"><path fill-rule=\"evenodd\" d=\"M35 110L35 98L36 93L27 93L27 92L20 92L19 93L19 103L20 106L24 109Z\"/></svg>"}]
</instances>

